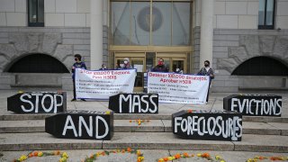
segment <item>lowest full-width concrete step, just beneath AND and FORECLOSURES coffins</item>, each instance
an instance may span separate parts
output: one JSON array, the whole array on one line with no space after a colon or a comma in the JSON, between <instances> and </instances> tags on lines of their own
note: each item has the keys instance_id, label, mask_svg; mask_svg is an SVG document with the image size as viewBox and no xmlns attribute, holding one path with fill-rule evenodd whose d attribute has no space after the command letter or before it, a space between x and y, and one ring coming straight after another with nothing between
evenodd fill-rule
<instances>
[{"instance_id":1,"label":"lowest full-width concrete step, just beneath AND and FORECLOSURES coffins","mask_svg":"<svg viewBox=\"0 0 288 162\"><path fill-rule=\"evenodd\" d=\"M288 152L288 136L244 134L242 141L178 139L171 132L115 132L111 140L56 139L48 133L2 133L0 150L178 149Z\"/></svg>"}]
</instances>

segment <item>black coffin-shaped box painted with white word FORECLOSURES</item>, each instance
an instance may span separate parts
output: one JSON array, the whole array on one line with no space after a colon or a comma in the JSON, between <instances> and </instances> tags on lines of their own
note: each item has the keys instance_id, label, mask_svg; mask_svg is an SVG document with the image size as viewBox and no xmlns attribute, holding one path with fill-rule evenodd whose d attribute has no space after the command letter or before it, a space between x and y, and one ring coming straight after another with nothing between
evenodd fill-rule
<instances>
[{"instance_id":1,"label":"black coffin-shaped box painted with white word FORECLOSURES","mask_svg":"<svg viewBox=\"0 0 288 162\"><path fill-rule=\"evenodd\" d=\"M191 110L176 112L172 114L172 130L182 139L240 141L242 114Z\"/></svg>"}]
</instances>

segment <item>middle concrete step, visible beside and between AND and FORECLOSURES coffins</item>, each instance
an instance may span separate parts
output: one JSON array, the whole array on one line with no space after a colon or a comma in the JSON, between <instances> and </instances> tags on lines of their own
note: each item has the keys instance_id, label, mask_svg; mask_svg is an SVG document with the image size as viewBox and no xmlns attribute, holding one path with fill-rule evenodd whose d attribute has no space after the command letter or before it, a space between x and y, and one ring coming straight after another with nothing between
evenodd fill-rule
<instances>
[{"instance_id":1,"label":"middle concrete step, visible beside and between AND and FORECLOSURES coffins","mask_svg":"<svg viewBox=\"0 0 288 162\"><path fill-rule=\"evenodd\" d=\"M44 132L44 120L1 121L0 133ZM144 120L139 125L136 120L115 120L115 132L171 132L170 120ZM281 122L243 121L243 134L288 136L288 124Z\"/></svg>"}]
</instances>

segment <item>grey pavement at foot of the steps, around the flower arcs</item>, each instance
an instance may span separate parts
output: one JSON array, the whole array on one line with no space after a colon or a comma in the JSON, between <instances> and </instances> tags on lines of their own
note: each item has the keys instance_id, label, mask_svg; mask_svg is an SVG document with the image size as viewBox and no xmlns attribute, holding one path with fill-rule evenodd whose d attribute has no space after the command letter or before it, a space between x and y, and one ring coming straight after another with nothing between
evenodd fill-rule
<instances>
[{"instance_id":1,"label":"grey pavement at foot of the steps, around the flower arcs","mask_svg":"<svg viewBox=\"0 0 288 162\"><path fill-rule=\"evenodd\" d=\"M97 152L113 151L114 149L77 149L77 150L61 150L61 152L67 152L69 156L67 161L79 162L83 161L85 157L89 157ZM139 149L143 154L145 162L157 162L157 159L163 157L175 156L175 154L184 154L188 153L194 155L194 157L189 158L180 158L174 160L177 162L188 162L188 161L208 161L202 157L196 157L195 155L199 153L208 152L211 155L211 158L215 159L216 156L222 157L227 162L245 162L249 158L253 157L287 157L287 153L272 153L272 152L247 152L247 151L212 151L212 150L164 150L164 149ZM0 157L0 161L13 161L15 158L21 157L22 155L27 155L31 150L27 151L4 151L3 157ZM51 150L43 150L43 152L51 152ZM58 156L49 156L49 157L31 157L27 161L58 161ZM137 161L137 156L130 153L112 153L109 156L100 156L96 161L101 162L123 162L123 161ZM216 161L216 160L213 160ZM217 160L218 161L218 160ZM267 162L270 160L261 160L261 162Z\"/></svg>"}]
</instances>

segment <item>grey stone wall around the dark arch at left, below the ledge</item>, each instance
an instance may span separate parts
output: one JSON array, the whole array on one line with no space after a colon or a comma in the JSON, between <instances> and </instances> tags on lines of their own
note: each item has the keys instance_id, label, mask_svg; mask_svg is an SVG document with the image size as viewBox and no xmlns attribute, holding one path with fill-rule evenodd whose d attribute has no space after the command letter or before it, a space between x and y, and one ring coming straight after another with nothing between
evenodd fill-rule
<instances>
[{"instance_id":1,"label":"grey stone wall around the dark arch at left, below the ledge","mask_svg":"<svg viewBox=\"0 0 288 162\"><path fill-rule=\"evenodd\" d=\"M0 28L0 89L10 89L25 85L54 85L63 89L72 88L70 74L45 74L39 78L55 80L49 84L32 78L34 74L7 73L6 70L19 58L33 53L47 54L57 58L67 69L71 70L74 54L83 56L87 67L90 67L90 28L31 28L31 27L1 27ZM53 79L51 79L53 77ZM54 78L55 77L55 78ZM60 79L60 80L59 80ZM45 79L44 79L45 80ZM62 81L61 81L62 80Z\"/></svg>"}]
</instances>

